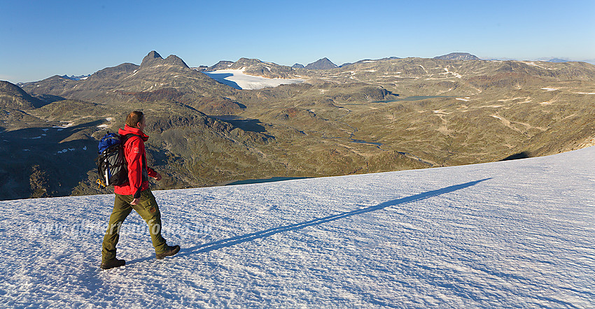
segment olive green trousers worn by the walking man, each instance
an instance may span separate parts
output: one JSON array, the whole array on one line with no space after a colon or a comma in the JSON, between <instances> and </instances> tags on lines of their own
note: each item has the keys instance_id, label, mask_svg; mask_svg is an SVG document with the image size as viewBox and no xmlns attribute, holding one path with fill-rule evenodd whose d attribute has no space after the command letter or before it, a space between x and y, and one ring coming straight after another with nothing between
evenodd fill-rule
<instances>
[{"instance_id":1,"label":"olive green trousers worn by the walking man","mask_svg":"<svg viewBox=\"0 0 595 309\"><path fill-rule=\"evenodd\" d=\"M161 213L151 190L146 189L141 192L141 198L137 205L130 205L132 200L132 195L116 194L116 201L113 202L113 211L109 217L109 224L102 245L103 262L116 259L116 245L120 239L120 228L133 209L147 223L155 252L162 253L167 247L165 239L161 236Z\"/></svg>"}]
</instances>

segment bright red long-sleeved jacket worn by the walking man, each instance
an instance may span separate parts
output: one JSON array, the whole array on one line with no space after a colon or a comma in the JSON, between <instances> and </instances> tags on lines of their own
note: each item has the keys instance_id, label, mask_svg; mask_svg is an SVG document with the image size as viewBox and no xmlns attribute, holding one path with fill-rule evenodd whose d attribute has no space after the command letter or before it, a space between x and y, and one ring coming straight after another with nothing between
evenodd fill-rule
<instances>
[{"instance_id":1,"label":"bright red long-sleeved jacket worn by the walking man","mask_svg":"<svg viewBox=\"0 0 595 309\"><path fill-rule=\"evenodd\" d=\"M124 143L124 156L128 162L128 182L120 186L113 186L113 192L121 195L133 195L134 199L141 197L141 192L148 189L148 177L157 177L157 172L147 167L145 143L148 136L141 129L124 126L118 131L120 135L136 134L129 136ZM141 136L141 137L139 137Z\"/></svg>"}]
</instances>

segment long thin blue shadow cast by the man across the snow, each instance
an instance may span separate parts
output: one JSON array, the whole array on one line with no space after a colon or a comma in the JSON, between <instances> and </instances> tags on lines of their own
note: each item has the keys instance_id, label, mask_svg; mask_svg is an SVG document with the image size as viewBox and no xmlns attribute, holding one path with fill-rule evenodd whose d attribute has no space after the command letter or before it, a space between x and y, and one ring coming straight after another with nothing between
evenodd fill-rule
<instances>
[{"instance_id":1,"label":"long thin blue shadow cast by the man across the snow","mask_svg":"<svg viewBox=\"0 0 595 309\"><path fill-rule=\"evenodd\" d=\"M258 238L265 238L267 236L272 236L276 233L283 233L285 231L295 231L298 229L304 229L305 227L313 227L315 225L323 224L326 222L332 222L335 220L343 219L346 217L351 217L354 215L361 215L363 213L370 213L375 210L382 210L389 206L397 206L397 205L402 205L405 203L411 203L414 201L421 201L423 199L428 199L433 196L447 194L449 192L454 192L454 191L457 191L460 189L464 189L466 187L471 187L472 185L477 185L479 182L482 182L485 180L490 180L490 179L491 178L486 178L486 179L476 180L476 181L472 181L472 182L465 182L461 185L452 185L449 187L444 187L442 189L436 189L436 190L432 190L432 191L428 191L428 192L423 192L420 194L415 194L412 196L403 197L401 199L395 199L393 201L386 201L384 203L379 203L376 206L370 206L367 208L352 210L349 212L338 213L337 215L330 215L327 217L316 218L314 220L309 220L306 222L300 222L300 223L296 223L296 224L290 224L290 225L286 225L283 227L274 227L272 229L265 229L263 231L257 231L254 233L248 233L248 234L241 235L241 236L225 238L225 239L217 240L217 241L214 241L211 243L204 243L202 245L197 245L194 247L182 249L179 254L176 254L176 256L177 257L185 257L185 256L192 255L192 254L199 254L199 253L209 252L209 251L213 251L213 250L218 250L223 247L231 247L233 245L238 245L240 243L246 243L248 241L252 241L252 240L255 240ZM128 264L132 264L137 261L146 261L148 259L151 259L151 258L149 257L149 258L145 258L145 259L137 259L134 261L130 261L130 263L128 263Z\"/></svg>"}]
</instances>

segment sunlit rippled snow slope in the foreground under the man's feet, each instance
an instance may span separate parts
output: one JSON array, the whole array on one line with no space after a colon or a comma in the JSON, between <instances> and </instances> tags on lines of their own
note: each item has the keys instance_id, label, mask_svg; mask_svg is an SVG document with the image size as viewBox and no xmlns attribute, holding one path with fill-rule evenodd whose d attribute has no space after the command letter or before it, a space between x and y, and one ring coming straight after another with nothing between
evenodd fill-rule
<instances>
[{"instance_id":1,"label":"sunlit rippled snow slope in the foreground under the man's feet","mask_svg":"<svg viewBox=\"0 0 595 309\"><path fill-rule=\"evenodd\" d=\"M0 201L0 306L593 308L594 157L156 191L109 271L113 195Z\"/></svg>"}]
</instances>

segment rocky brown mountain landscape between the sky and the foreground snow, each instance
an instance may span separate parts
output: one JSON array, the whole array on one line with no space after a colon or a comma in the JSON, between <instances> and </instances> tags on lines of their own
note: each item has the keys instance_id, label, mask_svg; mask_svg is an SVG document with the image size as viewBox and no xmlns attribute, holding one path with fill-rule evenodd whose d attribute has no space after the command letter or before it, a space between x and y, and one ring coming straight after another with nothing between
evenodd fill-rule
<instances>
[{"instance_id":1,"label":"rocky brown mountain landscape between the sky and the foreground snow","mask_svg":"<svg viewBox=\"0 0 595 309\"><path fill-rule=\"evenodd\" d=\"M241 58L191 68L152 51L84 80L0 84L0 199L109 193L97 140L144 110L156 189L552 155L592 145L595 66L395 57L336 66ZM469 57L463 55L463 58ZM328 69L323 69L328 67ZM204 71L303 82L235 89ZM65 168L68 166L68 168Z\"/></svg>"}]
</instances>

